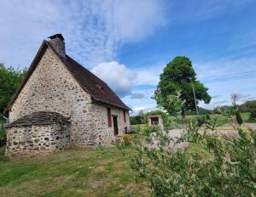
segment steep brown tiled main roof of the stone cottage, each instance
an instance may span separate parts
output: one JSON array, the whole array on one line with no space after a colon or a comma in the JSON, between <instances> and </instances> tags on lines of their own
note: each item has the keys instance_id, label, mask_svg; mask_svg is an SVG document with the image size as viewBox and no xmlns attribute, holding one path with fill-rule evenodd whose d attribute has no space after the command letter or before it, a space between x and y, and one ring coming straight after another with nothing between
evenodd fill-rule
<instances>
[{"instance_id":1,"label":"steep brown tiled main roof of the stone cottage","mask_svg":"<svg viewBox=\"0 0 256 197\"><path fill-rule=\"evenodd\" d=\"M20 94L20 91L25 86L29 77L32 76L33 70L36 69L38 62L48 47L55 52L55 48L53 48L49 42L44 41L42 43L38 53L32 61L32 65L27 70L24 80L21 82L20 87L16 91L15 96L11 99L9 105L4 110L4 114L7 114L12 105L15 103L15 99ZM67 70L69 70L76 82L79 83L79 86L82 87L85 92L89 93L91 98L93 98L96 102L110 104L124 110L131 110L115 93L113 93L113 90L108 87L105 82L102 82L100 78L92 74L89 70L85 69L82 65L80 65L68 55L66 55L66 58L63 58L58 53L55 52L55 54L59 57L59 59L61 59L61 62L66 65Z\"/></svg>"}]
</instances>

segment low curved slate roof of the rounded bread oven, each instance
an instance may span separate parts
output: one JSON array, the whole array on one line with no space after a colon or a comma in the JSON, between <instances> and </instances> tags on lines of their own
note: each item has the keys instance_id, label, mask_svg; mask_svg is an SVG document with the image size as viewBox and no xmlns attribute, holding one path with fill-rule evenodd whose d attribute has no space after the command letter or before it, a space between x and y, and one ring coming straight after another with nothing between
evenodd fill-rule
<instances>
[{"instance_id":1,"label":"low curved slate roof of the rounded bread oven","mask_svg":"<svg viewBox=\"0 0 256 197\"><path fill-rule=\"evenodd\" d=\"M7 127L24 127L31 125L67 124L69 119L63 115L51 111L33 112L31 115L24 115L13 121Z\"/></svg>"}]
</instances>

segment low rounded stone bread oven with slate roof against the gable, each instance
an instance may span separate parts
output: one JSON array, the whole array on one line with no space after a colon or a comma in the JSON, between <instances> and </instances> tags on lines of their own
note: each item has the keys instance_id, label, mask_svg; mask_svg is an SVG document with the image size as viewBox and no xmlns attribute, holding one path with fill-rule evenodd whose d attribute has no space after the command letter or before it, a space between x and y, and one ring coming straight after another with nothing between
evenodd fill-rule
<instances>
[{"instance_id":1,"label":"low rounded stone bread oven with slate roof against the gable","mask_svg":"<svg viewBox=\"0 0 256 197\"><path fill-rule=\"evenodd\" d=\"M7 127L5 155L44 155L65 149L70 142L70 121L49 111L34 112Z\"/></svg>"}]
</instances>

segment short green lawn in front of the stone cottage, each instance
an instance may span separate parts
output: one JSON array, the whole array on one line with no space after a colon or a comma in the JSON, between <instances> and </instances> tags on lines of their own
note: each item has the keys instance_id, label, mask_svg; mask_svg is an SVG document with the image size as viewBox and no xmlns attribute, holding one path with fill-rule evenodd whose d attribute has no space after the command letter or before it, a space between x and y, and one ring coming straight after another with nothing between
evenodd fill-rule
<instances>
[{"instance_id":1,"label":"short green lawn in front of the stone cottage","mask_svg":"<svg viewBox=\"0 0 256 197\"><path fill-rule=\"evenodd\" d=\"M149 196L135 183L129 153L116 148L68 149L6 160L0 148L0 196Z\"/></svg>"}]
</instances>

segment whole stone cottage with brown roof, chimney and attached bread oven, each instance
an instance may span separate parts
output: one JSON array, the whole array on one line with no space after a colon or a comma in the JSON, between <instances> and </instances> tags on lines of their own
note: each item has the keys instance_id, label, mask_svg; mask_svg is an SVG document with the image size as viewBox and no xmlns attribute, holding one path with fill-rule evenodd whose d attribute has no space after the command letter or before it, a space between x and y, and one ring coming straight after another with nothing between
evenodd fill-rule
<instances>
[{"instance_id":1,"label":"whole stone cottage with brown roof, chimney and attached bread oven","mask_svg":"<svg viewBox=\"0 0 256 197\"><path fill-rule=\"evenodd\" d=\"M105 82L67 55L64 38L56 34L42 43L5 110L6 155L110 144L129 130L129 110Z\"/></svg>"}]
</instances>

